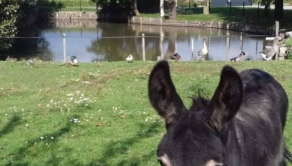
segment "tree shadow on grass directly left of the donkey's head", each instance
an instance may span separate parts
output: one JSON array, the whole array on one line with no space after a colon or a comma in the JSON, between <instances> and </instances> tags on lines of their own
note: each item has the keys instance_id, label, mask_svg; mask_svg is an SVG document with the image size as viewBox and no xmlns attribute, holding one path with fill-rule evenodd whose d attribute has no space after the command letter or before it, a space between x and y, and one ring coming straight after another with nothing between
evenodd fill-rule
<instances>
[{"instance_id":1,"label":"tree shadow on grass directly left of the donkey's head","mask_svg":"<svg viewBox=\"0 0 292 166\"><path fill-rule=\"evenodd\" d=\"M133 137L126 138L124 140L112 142L109 145L105 146L102 157L91 161L90 166L109 166L109 165L117 165L117 166L138 166L141 165L142 162L146 162L152 160L153 154L155 154L156 150L151 150L147 154L142 156L133 156L133 157L125 157L117 163L112 163L112 161L120 155L127 154L128 149L131 145L139 143L142 139L153 137L160 133L159 131L159 123L153 123L149 126L145 124L139 124L137 127L146 128L146 131L138 133ZM143 151L143 149L141 149ZM155 160L155 159L153 159Z\"/></svg>"}]
</instances>

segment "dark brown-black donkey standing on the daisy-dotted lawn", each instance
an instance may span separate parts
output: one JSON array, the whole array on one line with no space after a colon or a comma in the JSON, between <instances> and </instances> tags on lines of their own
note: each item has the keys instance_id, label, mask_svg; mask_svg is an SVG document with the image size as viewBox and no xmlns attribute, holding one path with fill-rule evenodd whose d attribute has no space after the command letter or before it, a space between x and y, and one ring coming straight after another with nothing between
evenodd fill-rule
<instances>
[{"instance_id":1,"label":"dark brown-black donkey standing on the daisy-dotted lawn","mask_svg":"<svg viewBox=\"0 0 292 166\"><path fill-rule=\"evenodd\" d=\"M162 166L286 166L292 155L283 140L288 98L261 70L239 74L224 66L210 99L200 95L186 109L161 61L151 71L149 100L164 117L157 149Z\"/></svg>"}]
</instances>

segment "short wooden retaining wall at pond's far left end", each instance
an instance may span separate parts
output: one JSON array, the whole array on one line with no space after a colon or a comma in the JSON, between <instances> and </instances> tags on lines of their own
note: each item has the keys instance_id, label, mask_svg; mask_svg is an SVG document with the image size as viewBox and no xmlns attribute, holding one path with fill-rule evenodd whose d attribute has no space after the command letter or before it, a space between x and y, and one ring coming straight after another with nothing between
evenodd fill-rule
<instances>
[{"instance_id":1,"label":"short wooden retaining wall at pond's far left end","mask_svg":"<svg viewBox=\"0 0 292 166\"><path fill-rule=\"evenodd\" d=\"M55 20L97 20L96 12L56 12Z\"/></svg>"}]
</instances>

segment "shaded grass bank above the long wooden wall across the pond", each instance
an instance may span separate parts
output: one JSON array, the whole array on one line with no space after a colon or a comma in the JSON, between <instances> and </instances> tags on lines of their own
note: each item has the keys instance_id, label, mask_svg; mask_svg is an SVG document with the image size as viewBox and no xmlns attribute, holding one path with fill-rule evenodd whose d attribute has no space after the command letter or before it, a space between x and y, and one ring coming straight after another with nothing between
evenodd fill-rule
<instances>
[{"instance_id":1,"label":"shaded grass bank above the long wooden wall across the pond","mask_svg":"<svg viewBox=\"0 0 292 166\"><path fill-rule=\"evenodd\" d=\"M222 22L237 22L244 24L255 24L263 26L273 26L274 21L274 10L270 10L270 16L264 17L264 9L259 10L259 18L257 18L257 8L245 7L244 16L242 16L242 7L232 7L231 15L229 7L211 7L210 15L203 15L203 8L194 8L193 15L177 15L177 20L189 20L189 21L222 21ZM280 24L280 29L292 30L292 10L284 10L284 16L281 19L277 19ZM141 14L141 17L153 17L159 18L159 13L154 14ZM168 14L166 13L166 19Z\"/></svg>"}]
</instances>

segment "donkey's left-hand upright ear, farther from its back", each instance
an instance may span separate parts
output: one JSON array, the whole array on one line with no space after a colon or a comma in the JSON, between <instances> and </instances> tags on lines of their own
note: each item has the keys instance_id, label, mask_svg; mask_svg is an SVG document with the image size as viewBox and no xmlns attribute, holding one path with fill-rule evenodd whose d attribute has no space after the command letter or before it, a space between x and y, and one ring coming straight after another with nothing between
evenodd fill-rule
<instances>
[{"instance_id":1,"label":"donkey's left-hand upright ear, farther from its back","mask_svg":"<svg viewBox=\"0 0 292 166\"><path fill-rule=\"evenodd\" d=\"M183 101L177 94L170 78L169 66L161 61L151 71L148 83L149 100L166 125L175 122L185 110Z\"/></svg>"}]
</instances>

